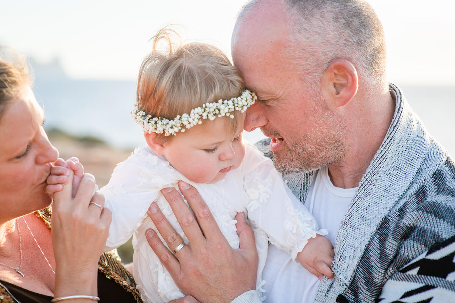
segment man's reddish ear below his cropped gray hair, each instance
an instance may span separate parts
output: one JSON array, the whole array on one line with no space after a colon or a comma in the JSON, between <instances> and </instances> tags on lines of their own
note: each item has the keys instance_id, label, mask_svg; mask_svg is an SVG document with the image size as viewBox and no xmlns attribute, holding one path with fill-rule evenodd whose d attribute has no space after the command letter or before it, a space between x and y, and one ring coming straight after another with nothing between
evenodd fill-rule
<instances>
[{"instance_id":1,"label":"man's reddish ear below his cropped gray hair","mask_svg":"<svg viewBox=\"0 0 455 303\"><path fill-rule=\"evenodd\" d=\"M322 77L322 88L324 98L333 109L348 104L359 88L354 65L346 59L330 63Z\"/></svg>"}]
</instances>

